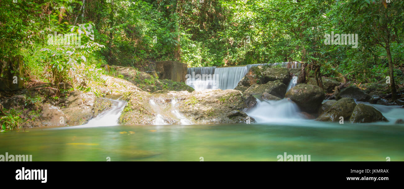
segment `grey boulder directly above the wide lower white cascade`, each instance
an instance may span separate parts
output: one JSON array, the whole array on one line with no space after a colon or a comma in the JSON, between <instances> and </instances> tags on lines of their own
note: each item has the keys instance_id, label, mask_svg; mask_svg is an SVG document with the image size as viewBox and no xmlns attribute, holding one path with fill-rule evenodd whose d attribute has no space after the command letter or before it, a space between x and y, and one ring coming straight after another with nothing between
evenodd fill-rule
<instances>
[{"instance_id":1,"label":"grey boulder directly above the wide lower white cascade","mask_svg":"<svg viewBox=\"0 0 404 189\"><path fill-rule=\"evenodd\" d=\"M253 84L247 90L245 90L245 93L261 96L263 93L267 92L283 99L285 97L286 88L287 86L285 84L279 80L276 80L273 82L267 82L266 84Z\"/></svg>"}]
</instances>

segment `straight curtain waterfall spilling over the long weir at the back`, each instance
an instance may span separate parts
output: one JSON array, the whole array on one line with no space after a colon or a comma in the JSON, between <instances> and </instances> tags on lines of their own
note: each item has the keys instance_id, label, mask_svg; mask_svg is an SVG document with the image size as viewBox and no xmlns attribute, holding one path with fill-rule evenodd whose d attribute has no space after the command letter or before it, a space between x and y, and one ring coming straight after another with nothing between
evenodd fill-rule
<instances>
[{"instance_id":1,"label":"straight curtain waterfall spilling over the long weir at the back","mask_svg":"<svg viewBox=\"0 0 404 189\"><path fill-rule=\"evenodd\" d=\"M195 90L234 89L251 67L259 65L281 65L282 67L299 68L298 62L249 64L231 67L189 67L186 84Z\"/></svg>"}]
</instances>

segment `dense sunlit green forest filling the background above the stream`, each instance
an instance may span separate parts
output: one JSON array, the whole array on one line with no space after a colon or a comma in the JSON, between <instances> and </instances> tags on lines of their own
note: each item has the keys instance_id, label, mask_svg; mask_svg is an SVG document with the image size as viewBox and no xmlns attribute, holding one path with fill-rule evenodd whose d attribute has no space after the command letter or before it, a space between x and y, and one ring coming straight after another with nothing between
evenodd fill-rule
<instances>
[{"instance_id":1,"label":"dense sunlit green forest filling the background above the stream","mask_svg":"<svg viewBox=\"0 0 404 189\"><path fill-rule=\"evenodd\" d=\"M299 83L388 83L394 100L404 80L403 8L401 0L2 0L0 71L54 84L58 98L66 83L99 94L83 83L114 75L105 65L297 61Z\"/></svg>"}]
</instances>

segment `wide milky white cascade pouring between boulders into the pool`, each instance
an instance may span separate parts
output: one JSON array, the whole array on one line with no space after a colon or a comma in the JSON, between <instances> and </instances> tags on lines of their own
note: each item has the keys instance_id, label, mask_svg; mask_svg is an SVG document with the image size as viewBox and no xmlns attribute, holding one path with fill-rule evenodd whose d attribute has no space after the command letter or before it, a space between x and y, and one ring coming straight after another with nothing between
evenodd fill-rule
<instances>
[{"instance_id":1,"label":"wide milky white cascade pouring between boulders into the pool","mask_svg":"<svg viewBox=\"0 0 404 189\"><path fill-rule=\"evenodd\" d=\"M290 101L266 101L257 99L256 107L246 112L248 116L255 119L257 123L268 122L290 122L291 119L301 119L299 107Z\"/></svg>"}]
</instances>

